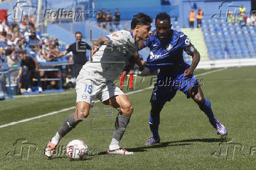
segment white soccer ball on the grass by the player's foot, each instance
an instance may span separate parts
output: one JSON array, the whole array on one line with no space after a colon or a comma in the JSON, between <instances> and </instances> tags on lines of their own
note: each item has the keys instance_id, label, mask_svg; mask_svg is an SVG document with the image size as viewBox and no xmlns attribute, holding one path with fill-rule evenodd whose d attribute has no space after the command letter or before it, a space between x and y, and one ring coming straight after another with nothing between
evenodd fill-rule
<instances>
[{"instance_id":1,"label":"white soccer ball on the grass by the player's foot","mask_svg":"<svg viewBox=\"0 0 256 170\"><path fill-rule=\"evenodd\" d=\"M82 140L73 140L66 146L66 155L70 159L83 159L88 152L89 149Z\"/></svg>"}]
</instances>

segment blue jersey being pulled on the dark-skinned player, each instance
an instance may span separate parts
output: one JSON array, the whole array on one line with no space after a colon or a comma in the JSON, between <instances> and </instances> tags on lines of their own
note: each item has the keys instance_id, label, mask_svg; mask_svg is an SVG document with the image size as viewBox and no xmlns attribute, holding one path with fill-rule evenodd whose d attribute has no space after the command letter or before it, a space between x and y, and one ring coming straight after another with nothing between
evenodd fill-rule
<instances>
[{"instance_id":1,"label":"blue jersey being pulled on the dark-skinned player","mask_svg":"<svg viewBox=\"0 0 256 170\"><path fill-rule=\"evenodd\" d=\"M159 69L160 66L185 64L183 49L190 45L190 39L183 32L172 30L172 36L164 44L157 38L156 30L144 41L150 48L147 67Z\"/></svg>"}]
</instances>

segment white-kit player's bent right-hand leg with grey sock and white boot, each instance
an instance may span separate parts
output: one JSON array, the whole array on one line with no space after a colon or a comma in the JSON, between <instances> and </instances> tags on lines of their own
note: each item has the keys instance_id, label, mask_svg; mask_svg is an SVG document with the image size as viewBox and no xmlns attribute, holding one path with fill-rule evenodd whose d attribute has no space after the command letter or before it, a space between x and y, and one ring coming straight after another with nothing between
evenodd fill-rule
<instances>
[{"instance_id":1,"label":"white-kit player's bent right-hand leg with grey sock and white boot","mask_svg":"<svg viewBox=\"0 0 256 170\"><path fill-rule=\"evenodd\" d=\"M129 124L130 117L133 113L133 106L130 103L126 95L113 96L109 100L104 102L114 108L120 108L119 114L116 117L115 128L113 132L113 138L107 149L109 155L130 155L133 152L128 152L126 149L119 147L119 142L123 137L124 131Z\"/></svg>"}]
</instances>

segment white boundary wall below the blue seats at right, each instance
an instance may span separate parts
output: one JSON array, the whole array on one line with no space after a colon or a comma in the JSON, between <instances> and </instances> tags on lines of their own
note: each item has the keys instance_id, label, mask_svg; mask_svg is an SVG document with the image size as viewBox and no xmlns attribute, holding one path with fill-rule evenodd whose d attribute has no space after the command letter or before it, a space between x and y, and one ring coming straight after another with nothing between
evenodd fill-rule
<instances>
[{"instance_id":1,"label":"white boundary wall below the blue seats at right","mask_svg":"<svg viewBox=\"0 0 256 170\"><path fill-rule=\"evenodd\" d=\"M221 67L256 66L256 58L252 59L226 59L200 61L197 69L215 69Z\"/></svg>"}]
</instances>

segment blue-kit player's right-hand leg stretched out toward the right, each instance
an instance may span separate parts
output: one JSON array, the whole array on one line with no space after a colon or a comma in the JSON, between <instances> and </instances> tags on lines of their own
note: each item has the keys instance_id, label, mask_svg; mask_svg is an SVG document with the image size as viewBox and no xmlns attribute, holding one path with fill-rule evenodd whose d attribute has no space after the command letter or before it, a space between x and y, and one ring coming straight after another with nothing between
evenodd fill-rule
<instances>
[{"instance_id":1,"label":"blue-kit player's right-hand leg stretched out toward the right","mask_svg":"<svg viewBox=\"0 0 256 170\"><path fill-rule=\"evenodd\" d=\"M214 117L213 111L211 110L211 102L207 98L204 98L204 94L201 87L190 87L190 89L188 90L188 94L198 104L201 111L203 111L207 115L211 125L213 125L213 127L216 128L217 134L220 134L221 136L227 135L227 130L224 127L224 125L221 124L217 120L217 118Z\"/></svg>"}]
</instances>

